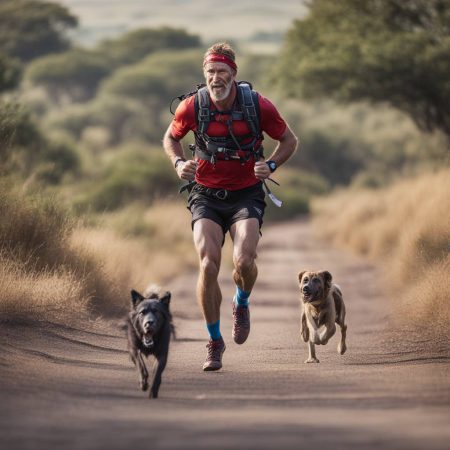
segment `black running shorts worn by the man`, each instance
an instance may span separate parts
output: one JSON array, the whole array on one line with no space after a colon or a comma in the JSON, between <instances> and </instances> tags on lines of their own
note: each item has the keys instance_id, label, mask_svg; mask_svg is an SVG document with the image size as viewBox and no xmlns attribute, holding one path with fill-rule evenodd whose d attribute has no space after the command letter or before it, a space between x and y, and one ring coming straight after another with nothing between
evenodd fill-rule
<instances>
[{"instance_id":1,"label":"black running shorts worn by the man","mask_svg":"<svg viewBox=\"0 0 450 450\"><path fill-rule=\"evenodd\" d=\"M238 191L212 189L196 184L188 198L192 214L192 227L199 219L210 219L222 227L226 234L233 223L250 218L263 223L266 202L262 183Z\"/></svg>"}]
</instances>

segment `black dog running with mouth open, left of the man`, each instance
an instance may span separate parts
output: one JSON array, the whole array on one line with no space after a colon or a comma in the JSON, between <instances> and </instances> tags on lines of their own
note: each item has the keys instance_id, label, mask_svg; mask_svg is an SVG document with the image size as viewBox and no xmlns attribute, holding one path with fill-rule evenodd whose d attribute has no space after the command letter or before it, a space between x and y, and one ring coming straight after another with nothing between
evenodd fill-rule
<instances>
[{"instance_id":1,"label":"black dog running with mouth open, left of the man","mask_svg":"<svg viewBox=\"0 0 450 450\"><path fill-rule=\"evenodd\" d=\"M140 387L148 389L148 371L144 356L154 355L154 377L149 398L157 398L169 353L170 335L174 333L169 310L170 292L159 295L150 292L145 297L131 291L131 311L127 318L128 350L139 371Z\"/></svg>"}]
</instances>

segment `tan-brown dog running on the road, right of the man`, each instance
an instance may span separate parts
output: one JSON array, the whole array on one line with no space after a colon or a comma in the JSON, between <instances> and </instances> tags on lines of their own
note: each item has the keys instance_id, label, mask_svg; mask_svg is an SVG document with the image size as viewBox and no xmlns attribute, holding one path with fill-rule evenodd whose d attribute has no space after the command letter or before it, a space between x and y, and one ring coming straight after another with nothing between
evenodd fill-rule
<instances>
[{"instance_id":1,"label":"tan-brown dog running on the road, right of the man","mask_svg":"<svg viewBox=\"0 0 450 450\"><path fill-rule=\"evenodd\" d=\"M309 357L305 363L318 363L315 344L325 345L336 332L337 323L341 327L341 341L338 353L343 355L347 350L345 337L345 305L339 286L331 282L328 271L303 271L298 274L302 316L300 334L309 345Z\"/></svg>"}]
</instances>

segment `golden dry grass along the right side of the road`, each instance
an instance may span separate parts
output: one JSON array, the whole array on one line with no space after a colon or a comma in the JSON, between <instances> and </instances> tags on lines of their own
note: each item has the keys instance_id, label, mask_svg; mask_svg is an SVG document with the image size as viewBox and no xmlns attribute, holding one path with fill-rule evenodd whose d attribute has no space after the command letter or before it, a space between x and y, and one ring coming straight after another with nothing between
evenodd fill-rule
<instances>
[{"instance_id":1,"label":"golden dry grass along the right side of the road","mask_svg":"<svg viewBox=\"0 0 450 450\"><path fill-rule=\"evenodd\" d=\"M447 334L449 192L450 169L444 169L383 190L343 191L313 204L320 235L383 263L387 294L404 312L402 319L425 319Z\"/></svg>"}]
</instances>

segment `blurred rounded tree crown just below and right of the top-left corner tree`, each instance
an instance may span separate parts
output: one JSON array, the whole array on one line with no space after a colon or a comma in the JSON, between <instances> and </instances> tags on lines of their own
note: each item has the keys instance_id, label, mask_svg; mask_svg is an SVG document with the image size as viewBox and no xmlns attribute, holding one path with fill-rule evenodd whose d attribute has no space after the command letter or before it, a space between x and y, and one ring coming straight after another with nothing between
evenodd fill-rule
<instances>
[{"instance_id":1,"label":"blurred rounded tree crown just below and right of the top-left corner tree","mask_svg":"<svg viewBox=\"0 0 450 450\"><path fill-rule=\"evenodd\" d=\"M64 98L86 101L95 95L99 82L110 70L107 58L101 53L73 49L32 62L27 78L35 85L44 86L56 102Z\"/></svg>"}]
</instances>

